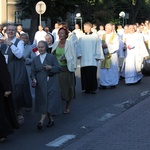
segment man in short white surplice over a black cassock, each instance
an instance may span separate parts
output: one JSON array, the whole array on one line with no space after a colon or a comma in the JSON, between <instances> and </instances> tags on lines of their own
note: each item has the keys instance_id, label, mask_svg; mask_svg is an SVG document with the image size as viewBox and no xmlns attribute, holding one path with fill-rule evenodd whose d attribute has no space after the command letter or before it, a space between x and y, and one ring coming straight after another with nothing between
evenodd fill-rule
<instances>
[{"instance_id":1,"label":"man in short white surplice over a black cassock","mask_svg":"<svg viewBox=\"0 0 150 150\"><path fill-rule=\"evenodd\" d=\"M78 58L81 66L81 85L85 93L94 94L97 90L98 61L104 59L101 42L97 33L91 32L92 24L84 24L84 33L78 41Z\"/></svg>"}]
</instances>

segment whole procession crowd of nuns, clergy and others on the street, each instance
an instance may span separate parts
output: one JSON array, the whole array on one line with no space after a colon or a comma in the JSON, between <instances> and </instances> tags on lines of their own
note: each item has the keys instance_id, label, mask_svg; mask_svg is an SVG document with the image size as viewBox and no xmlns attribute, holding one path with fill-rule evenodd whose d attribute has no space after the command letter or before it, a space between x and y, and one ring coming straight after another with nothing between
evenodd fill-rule
<instances>
[{"instance_id":1,"label":"whole procession crowd of nuns, clergy and others on the street","mask_svg":"<svg viewBox=\"0 0 150 150\"><path fill-rule=\"evenodd\" d=\"M21 25L9 24L5 31L0 26L0 142L24 123L23 109L31 111L33 102L41 115L38 130L46 117L51 127L54 114L70 112L78 63L81 91L96 94L98 88L116 88L122 78L127 85L140 83L149 52L149 21L117 29L85 22L83 31L78 24L70 31L66 22L56 23L53 31L39 25L33 43Z\"/></svg>"}]
</instances>

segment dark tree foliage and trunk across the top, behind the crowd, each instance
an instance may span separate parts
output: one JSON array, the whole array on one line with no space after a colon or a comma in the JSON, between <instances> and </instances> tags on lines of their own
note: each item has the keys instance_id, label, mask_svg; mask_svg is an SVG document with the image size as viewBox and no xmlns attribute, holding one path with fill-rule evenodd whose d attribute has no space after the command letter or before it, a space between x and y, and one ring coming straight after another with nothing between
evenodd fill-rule
<instances>
[{"instance_id":1,"label":"dark tree foliage and trunk across the top, behind the crowd","mask_svg":"<svg viewBox=\"0 0 150 150\"><path fill-rule=\"evenodd\" d=\"M17 6L22 10L22 19L31 18L31 39L37 30L38 14L35 11L39 0L19 0ZM150 19L150 0L43 0L47 9L42 19L48 18L55 22L66 20L67 12L74 13L78 5L83 22L107 23L119 21L119 13L124 11L130 14L128 23L142 22Z\"/></svg>"}]
</instances>

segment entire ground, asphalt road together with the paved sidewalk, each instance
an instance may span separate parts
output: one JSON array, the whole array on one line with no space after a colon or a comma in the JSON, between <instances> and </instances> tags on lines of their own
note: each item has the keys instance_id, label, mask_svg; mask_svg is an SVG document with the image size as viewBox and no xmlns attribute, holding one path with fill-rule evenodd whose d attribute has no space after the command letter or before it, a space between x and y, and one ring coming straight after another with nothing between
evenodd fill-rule
<instances>
[{"instance_id":1,"label":"entire ground, asphalt road together with the paved sidewalk","mask_svg":"<svg viewBox=\"0 0 150 150\"><path fill-rule=\"evenodd\" d=\"M52 128L45 127L46 120L38 131L40 116L34 109L24 112L24 124L0 144L0 150L149 150L140 149L150 147L149 77L134 86L121 80L116 89L97 90L95 95L82 93L78 73L76 78L70 114L55 116Z\"/></svg>"}]
</instances>

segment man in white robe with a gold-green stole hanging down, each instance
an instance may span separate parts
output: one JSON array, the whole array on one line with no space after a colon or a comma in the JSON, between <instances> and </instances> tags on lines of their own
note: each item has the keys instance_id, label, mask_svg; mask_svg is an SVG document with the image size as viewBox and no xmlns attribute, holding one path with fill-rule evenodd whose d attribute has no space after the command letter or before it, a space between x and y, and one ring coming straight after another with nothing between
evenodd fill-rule
<instances>
[{"instance_id":1,"label":"man in white robe with a gold-green stole hanging down","mask_svg":"<svg viewBox=\"0 0 150 150\"><path fill-rule=\"evenodd\" d=\"M105 26L106 34L102 37L102 47L105 55L105 60L100 64L100 79L99 88L106 87L114 88L119 81L118 72L118 35L113 32L113 25L108 23Z\"/></svg>"}]
</instances>

